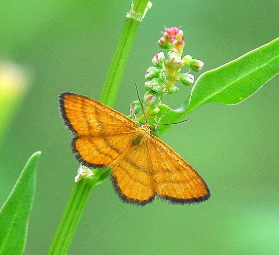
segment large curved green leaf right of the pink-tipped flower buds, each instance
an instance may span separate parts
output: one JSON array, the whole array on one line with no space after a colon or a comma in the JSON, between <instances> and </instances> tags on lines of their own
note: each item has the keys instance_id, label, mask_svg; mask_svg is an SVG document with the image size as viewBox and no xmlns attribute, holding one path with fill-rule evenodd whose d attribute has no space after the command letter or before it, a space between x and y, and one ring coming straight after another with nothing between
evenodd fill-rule
<instances>
[{"instance_id":1,"label":"large curved green leaf right of the pink-tipped flower buds","mask_svg":"<svg viewBox=\"0 0 279 255\"><path fill-rule=\"evenodd\" d=\"M198 106L209 102L240 103L256 93L279 72L279 38L213 70L204 72L197 80L188 99L177 109L169 111L162 123L185 118ZM167 106L159 106L164 113ZM171 125L159 126L160 135Z\"/></svg>"}]
</instances>

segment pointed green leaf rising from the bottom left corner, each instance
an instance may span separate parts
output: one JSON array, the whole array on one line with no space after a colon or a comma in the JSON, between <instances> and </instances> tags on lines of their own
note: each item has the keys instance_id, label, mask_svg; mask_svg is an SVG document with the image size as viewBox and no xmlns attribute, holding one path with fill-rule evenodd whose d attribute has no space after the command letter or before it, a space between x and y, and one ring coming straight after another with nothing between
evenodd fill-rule
<instances>
[{"instance_id":1,"label":"pointed green leaf rising from the bottom left corner","mask_svg":"<svg viewBox=\"0 0 279 255\"><path fill-rule=\"evenodd\" d=\"M0 255L21 254L24 250L40 155L36 152L29 158L0 210Z\"/></svg>"}]
</instances>

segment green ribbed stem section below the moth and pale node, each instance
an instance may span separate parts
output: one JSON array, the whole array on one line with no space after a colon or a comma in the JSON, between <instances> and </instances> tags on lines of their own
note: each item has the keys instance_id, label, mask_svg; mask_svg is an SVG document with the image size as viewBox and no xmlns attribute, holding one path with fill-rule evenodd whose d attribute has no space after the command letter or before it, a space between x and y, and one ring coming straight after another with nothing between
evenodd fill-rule
<instances>
[{"instance_id":1,"label":"green ribbed stem section below the moth and pale node","mask_svg":"<svg viewBox=\"0 0 279 255\"><path fill-rule=\"evenodd\" d=\"M66 254L80 222L89 195L95 185L95 181L92 181L90 178L84 178L75 184L47 253L48 255Z\"/></svg>"}]
</instances>

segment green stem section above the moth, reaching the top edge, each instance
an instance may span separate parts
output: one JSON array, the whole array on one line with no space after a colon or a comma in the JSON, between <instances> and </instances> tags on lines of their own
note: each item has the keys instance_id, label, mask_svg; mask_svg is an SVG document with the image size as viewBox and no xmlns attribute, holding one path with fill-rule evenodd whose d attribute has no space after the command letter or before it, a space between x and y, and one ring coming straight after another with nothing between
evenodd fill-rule
<instances>
[{"instance_id":1,"label":"green stem section above the moth, reaching the top edge","mask_svg":"<svg viewBox=\"0 0 279 255\"><path fill-rule=\"evenodd\" d=\"M149 0L133 1L134 8L131 15L126 15L119 41L103 84L100 101L110 107L114 105L123 73L134 43L135 35L144 17ZM128 12L129 13L129 12ZM131 10L130 10L131 13Z\"/></svg>"}]
</instances>

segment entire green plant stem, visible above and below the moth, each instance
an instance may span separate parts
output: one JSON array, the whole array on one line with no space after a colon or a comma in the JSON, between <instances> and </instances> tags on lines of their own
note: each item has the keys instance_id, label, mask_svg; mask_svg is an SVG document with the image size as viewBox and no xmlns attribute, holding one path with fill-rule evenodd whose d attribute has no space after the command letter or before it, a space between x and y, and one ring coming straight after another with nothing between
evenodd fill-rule
<instances>
[{"instance_id":1,"label":"entire green plant stem, visible above and below the moth","mask_svg":"<svg viewBox=\"0 0 279 255\"><path fill-rule=\"evenodd\" d=\"M134 0L133 8L126 15L120 39L116 46L111 66L103 86L100 101L113 106L122 80L130 51L135 39L136 31L144 18L148 0ZM110 169L93 169L94 175L78 181L68 200L61 221L57 227L48 255L65 255L72 242L83 210L87 204L93 188L107 180Z\"/></svg>"}]
</instances>

